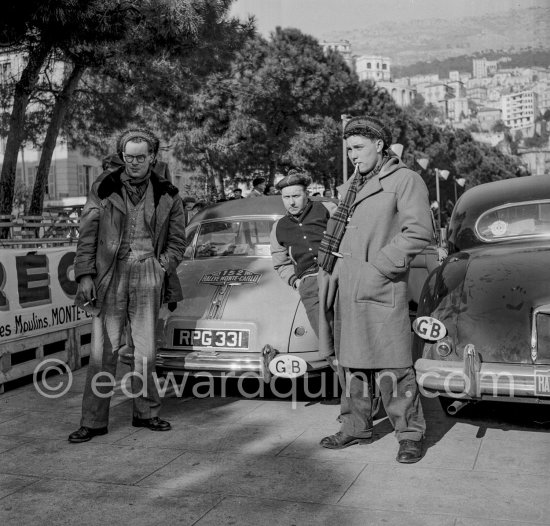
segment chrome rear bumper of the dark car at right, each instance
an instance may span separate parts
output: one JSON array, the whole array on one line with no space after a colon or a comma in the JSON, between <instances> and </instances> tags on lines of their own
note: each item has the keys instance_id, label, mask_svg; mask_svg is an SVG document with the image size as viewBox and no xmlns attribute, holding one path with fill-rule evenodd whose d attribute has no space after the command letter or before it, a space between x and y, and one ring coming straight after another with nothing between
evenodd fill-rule
<instances>
[{"instance_id":1,"label":"chrome rear bumper of the dark car at right","mask_svg":"<svg viewBox=\"0 0 550 526\"><path fill-rule=\"evenodd\" d=\"M507 397L550 403L550 365L481 363L473 346L467 346L461 362L420 358L415 370L424 394L466 399Z\"/></svg>"}]
</instances>

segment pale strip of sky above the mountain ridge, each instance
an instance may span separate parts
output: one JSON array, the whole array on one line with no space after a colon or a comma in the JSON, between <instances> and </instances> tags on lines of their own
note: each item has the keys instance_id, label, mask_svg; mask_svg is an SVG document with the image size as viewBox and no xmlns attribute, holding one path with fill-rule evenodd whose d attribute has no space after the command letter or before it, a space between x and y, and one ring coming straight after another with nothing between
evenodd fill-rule
<instances>
[{"instance_id":1,"label":"pale strip of sky above the mountain ridge","mask_svg":"<svg viewBox=\"0 0 550 526\"><path fill-rule=\"evenodd\" d=\"M548 7L550 0L236 0L231 13L256 17L264 36L276 26L322 38L333 30L426 18L454 19L514 8Z\"/></svg>"}]
</instances>

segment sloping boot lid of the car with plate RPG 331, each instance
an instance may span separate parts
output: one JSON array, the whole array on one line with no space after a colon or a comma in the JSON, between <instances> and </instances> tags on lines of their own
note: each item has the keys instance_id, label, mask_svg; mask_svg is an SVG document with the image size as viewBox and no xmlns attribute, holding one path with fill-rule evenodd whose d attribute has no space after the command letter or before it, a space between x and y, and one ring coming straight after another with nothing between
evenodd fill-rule
<instances>
[{"instance_id":1,"label":"sloping boot lid of the car with plate RPG 331","mask_svg":"<svg viewBox=\"0 0 550 526\"><path fill-rule=\"evenodd\" d=\"M281 280L271 258L184 261L178 275L184 299L169 318L252 322L259 343L287 349L300 297ZM220 279L240 284L224 286Z\"/></svg>"}]
</instances>

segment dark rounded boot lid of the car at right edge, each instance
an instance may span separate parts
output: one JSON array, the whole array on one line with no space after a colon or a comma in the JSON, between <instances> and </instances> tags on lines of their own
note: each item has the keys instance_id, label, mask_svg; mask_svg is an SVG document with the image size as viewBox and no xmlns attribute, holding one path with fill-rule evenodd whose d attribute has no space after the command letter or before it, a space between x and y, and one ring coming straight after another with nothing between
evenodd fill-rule
<instances>
[{"instance_id":1,"label":"dark rounded boot lid of the car at right edge","mask_svg":"<svg viewBox=\"0 0 550 526\"><path fill-rule=\"evenodd\" d=\"M550 304L550 246L471 251L462 287L453 295L446 317L455 325L459 348L473 343L484 361L531 363L533 310ZM548 346L539 343L538 363L549 358Z\"/></svg>"}]
</instances>

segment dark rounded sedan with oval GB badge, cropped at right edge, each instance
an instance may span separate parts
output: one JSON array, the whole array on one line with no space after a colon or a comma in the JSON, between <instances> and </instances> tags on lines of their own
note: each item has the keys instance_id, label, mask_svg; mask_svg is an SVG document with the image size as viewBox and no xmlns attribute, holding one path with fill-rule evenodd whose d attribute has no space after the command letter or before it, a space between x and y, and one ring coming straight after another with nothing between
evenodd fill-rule
<instances>
[{"instance_id":1,"label":"dark rounded sedan with oval GB badge, cropped at right edge","mask_svg":"<svg viewBox=\"0 0 550 526\"><path fill-rule=\"evenodd\" d=\"M421 389L450 414L470 400L550 402L550 177L468 190L448 241L414 322Z\"/></svg>"}]
</instances>

